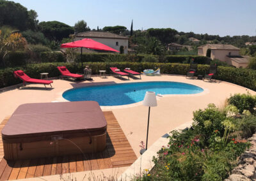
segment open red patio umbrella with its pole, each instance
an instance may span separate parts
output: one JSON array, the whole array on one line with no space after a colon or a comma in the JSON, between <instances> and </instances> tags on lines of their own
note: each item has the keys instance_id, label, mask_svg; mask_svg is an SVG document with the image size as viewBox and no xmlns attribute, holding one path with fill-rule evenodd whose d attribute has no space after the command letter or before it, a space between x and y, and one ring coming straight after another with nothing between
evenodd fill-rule
<instances>
[{"instance_id":1,"label":"open red patio umbrella with its pole","mask_svg":"<svg viewBox=\"0 0 256 181\"><path fill-rule=\"evenodd\" d=\"M83 40L72 41L70 43L63 43L60 47L61 48L78 48L78 47L81 47L82 68L83 68L82 48L89 48L89 49L93 49L93 50L105 50L105 51L111 51L111 52L119 52L118 50L115 50L114 48L108 47L107 45L99 43L98 41L94 41L90 38L84 38Z\"/></svg>"}]
</instances>

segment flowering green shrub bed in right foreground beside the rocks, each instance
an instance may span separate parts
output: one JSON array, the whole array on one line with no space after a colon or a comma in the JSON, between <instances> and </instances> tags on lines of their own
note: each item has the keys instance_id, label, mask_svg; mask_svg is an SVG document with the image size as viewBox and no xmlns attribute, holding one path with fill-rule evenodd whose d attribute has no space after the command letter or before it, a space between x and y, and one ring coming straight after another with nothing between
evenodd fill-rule
<instances>
[{"instance_id":1,"label":"flowering green shrub bed in right foreground beside the rocks","mask_svg":"<svg viewBox=\"0 0 256 181\"><path fill-rule=\"evenodd\" d=\"M167 147L153 157L154 168L136 180L224 180L237 165L237 157L250 146L234 134L243 131L244 119L232 116L237 113L234 105L220 111L210 104L196 111L193 127L172 131ZM243 116L256 119L248 113Z\"/></svg>"}]
</instances>

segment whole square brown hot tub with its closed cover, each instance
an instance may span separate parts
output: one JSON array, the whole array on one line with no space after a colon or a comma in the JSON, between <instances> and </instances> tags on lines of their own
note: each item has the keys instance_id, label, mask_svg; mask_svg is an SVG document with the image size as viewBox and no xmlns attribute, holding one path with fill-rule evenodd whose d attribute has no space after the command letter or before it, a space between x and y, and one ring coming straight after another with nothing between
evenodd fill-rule
<instances>
[{"instance_id":1,"label":"whole square brown hot tub with its closed cover","mask_svg":"<svg viewBox=\"0 0 256 181\"><path fill-rule=\"evenodd\" d=\"M20 105L2 130L7 160L102 152L107 122L95 101Z\"/></svg>"}]
</instances>

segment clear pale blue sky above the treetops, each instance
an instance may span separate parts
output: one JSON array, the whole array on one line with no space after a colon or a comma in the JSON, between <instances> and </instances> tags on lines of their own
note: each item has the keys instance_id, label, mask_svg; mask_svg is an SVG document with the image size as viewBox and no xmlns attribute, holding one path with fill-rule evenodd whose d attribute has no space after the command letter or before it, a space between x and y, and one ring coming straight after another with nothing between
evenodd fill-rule
<instances>
[{"instance_id":1,"label":"clear pale blue sky above the treetops","mask_svg":"<svg viewBox=\"0 0 256 181\"><path fill-rule=\"evenodd\" d=\"M38 20L133 29L171 27L177 31L256 36L256 0L15 0L38 13Z\"/></svg>"}]
</instances>

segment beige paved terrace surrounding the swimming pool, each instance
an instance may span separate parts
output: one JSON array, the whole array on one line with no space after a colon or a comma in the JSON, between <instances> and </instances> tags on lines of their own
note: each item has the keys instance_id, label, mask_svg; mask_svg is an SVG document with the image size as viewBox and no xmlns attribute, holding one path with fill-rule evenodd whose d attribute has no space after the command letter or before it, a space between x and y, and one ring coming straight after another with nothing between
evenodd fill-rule
<instances>
[{"instance_id":1,"label":"beige paved terrace surrounding the swimming pool","mask_svg":"<svg viewBox=\"0 0 256 181\"><path fill-rule=\"evenodd\" d=\"M225 100L230 94L246 93L256 94L256 92L234 85L232 83L221 82L204 82L203 80L186 79L185 76L161 75L161 76L141 76L140 79L127 80L107 76L107 78L93 77L93 82L72 82L69 80L54 80L52 89L45 89L44 85L27 85L21 89L13 89L0 93L0 120L12 115L14 110L24 103L47 103L52 101L66 101L62 98L62 93L73 87L86 85L97 85L101 83L128 83L128 82L145 82L145 81L173 81L191 83L204 89L199 94L189 95L164 95L157 97L157 106L151 108L150 126L148 133L148 147L166 133L170 133L175 127L191 122L193 111L204 109L209 103L223 108ZM140 141L146 140L147 133L147 116L148 108L142 103L134 103L124 106L102 106L103 111L111 110L118 123L122 127L127 140L131 144L137 157L140 156ZM125 168L119 170L117 177L122 174ZM99 170L94 172L95 175L111 175L113 170ZM82 173L81 173L82 174ZM82 178L77 175L77 178ZM50 180L57 177L49 177ZM58 178L60 178L58 176Z\"/></svg>"}]
</instances>

